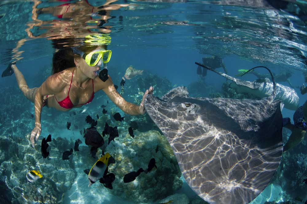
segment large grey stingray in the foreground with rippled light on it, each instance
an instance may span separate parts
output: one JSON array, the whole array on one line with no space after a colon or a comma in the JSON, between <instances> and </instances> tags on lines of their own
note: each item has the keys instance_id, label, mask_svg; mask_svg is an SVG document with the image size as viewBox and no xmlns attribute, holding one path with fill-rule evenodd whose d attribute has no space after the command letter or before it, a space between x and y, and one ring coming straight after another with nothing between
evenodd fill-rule
<instances>
[{"instance_id":1,"label":"large grey stingray in the foreground with rippled light on it","mask_svg":"<svg viewBox=\"0 0 307 204\"><path fill-rule=\"evenodd\" d=\"M144 104L192 190L211 204L244 204L270 183L281 160L275 94L276 86L261 100L193 98L176 87L161 98L147 95Z\"/></svg>"}]
</instances>

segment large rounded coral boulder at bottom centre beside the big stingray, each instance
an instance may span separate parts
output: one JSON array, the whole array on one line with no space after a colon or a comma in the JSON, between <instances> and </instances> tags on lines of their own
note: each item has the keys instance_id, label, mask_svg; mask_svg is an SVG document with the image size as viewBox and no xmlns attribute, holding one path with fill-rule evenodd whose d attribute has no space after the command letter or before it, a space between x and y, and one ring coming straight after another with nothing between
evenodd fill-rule
<instances>
[{"instance_id":1,"label":"large rounded coral boulder at bottom centre beside the big stingray","mask_svg":"<svg viewBox=\"0 0 307 204\"><path fill-rule=\"evenodd\" d=\"M137 132L135 135L133 140L121 137L116 141L119 147L109 145L106 149L116 161L109 167L109 172L116 175L110 193L135 202L147 202L164 198L181 188L181 171L166 138L157 131ZM141 173L133 182L123 183L125 174L141 167L146 169L151 158L155 158L157 169L148 174Z\"/></svg>"}]
</instances>

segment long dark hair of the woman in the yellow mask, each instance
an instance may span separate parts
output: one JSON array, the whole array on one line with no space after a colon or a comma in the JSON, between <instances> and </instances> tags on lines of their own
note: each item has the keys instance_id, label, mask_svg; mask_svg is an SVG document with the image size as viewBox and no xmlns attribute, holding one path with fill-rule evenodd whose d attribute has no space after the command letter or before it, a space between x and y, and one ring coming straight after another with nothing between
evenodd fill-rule
<instances>
[{"instance_id":1,"label":"long dark hair of the woman in the yellow mask","mask_svg":"<svg viewBox=\"0 0 307 204\"><path fill-rule=\"evenodd\" d=\"M95 50L98 46L81 46L78 47L84 53L89 53L92 50ZM78 57L72 52L71 47L62 48L57 50L52 57L52 74L61 72L65 69L75 66L74 58ZM80 57L80 56L79 56Z\"/></svg>"}]
</instances>

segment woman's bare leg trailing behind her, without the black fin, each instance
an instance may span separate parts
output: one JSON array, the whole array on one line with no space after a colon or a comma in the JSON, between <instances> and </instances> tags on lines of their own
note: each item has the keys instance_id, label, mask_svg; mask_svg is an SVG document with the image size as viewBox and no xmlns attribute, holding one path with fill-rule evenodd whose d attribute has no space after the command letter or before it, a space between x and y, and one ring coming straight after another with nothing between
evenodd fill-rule
<instances>
[{"instance_id":1,"label":"woman's bare leg trailing behind her, without the black fin","mask_svg":"<svg viewBox=\"0 0 307 204\"><path fill-rule=\"evenodd\" d=\"M22 93L25 95L26 98L28 98L31 102L34 103L35 93L37 90L37 87L30 89L28 87L27 82L25 81L25 77L23 74L19 71L16 65L12 66L12 69L14 70L14 74L16 76L16 80L18 83L18 87L22 91Z\"/></svg>"}]
</instances>

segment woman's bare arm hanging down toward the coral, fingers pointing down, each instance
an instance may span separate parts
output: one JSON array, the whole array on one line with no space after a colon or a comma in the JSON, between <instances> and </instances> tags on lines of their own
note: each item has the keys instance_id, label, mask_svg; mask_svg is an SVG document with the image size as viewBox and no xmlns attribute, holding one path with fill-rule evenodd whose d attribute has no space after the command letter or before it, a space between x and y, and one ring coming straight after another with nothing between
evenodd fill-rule
<instances>
[{"instance_id":1,"label":"woman's bare arm hanging down toward the coral, fingers pointing down","mask_svg":"<svg viewBox=\"0 0 307 204\"><path fill-rule=\"evenodd\" d=\"M30 141L34 147L34 138L37 141L41 135L41 110L43 107L43 98L46 95L55 95L63 91L65 87L64 73L58 73L49 76L44 83L37 89L34 100L35 109L35 127L30 136Z\"/></svg>"}]
</instances>

